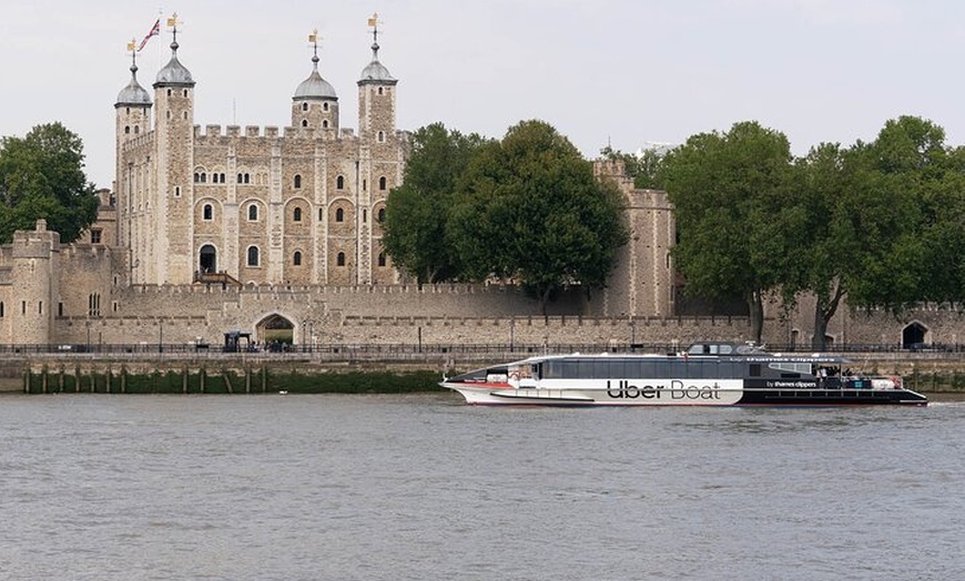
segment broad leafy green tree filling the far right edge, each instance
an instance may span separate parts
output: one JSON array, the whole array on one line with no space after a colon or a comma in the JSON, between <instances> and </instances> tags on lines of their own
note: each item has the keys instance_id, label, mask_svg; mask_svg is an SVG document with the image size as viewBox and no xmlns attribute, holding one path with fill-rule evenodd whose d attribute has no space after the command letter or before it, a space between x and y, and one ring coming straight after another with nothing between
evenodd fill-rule
<instances>
[{"instance_id":1,"label":"broad leafy green tree filling the far right edge","mask_svg":"<svg viewBox=\"0 0 965 581\"><path fill-rule=\"evenodd\" d=\"M961 265L954 208L962 208L961 171L944 145L944 130L918 118L885 123L872 143L844 150L822 144L795 163L806 235L789 264L785 300L812 292L815 349L841 300L892 310L923 299L948 300ZM793 235L793 233L789 233Z\"/></svg>"}]
</instances>

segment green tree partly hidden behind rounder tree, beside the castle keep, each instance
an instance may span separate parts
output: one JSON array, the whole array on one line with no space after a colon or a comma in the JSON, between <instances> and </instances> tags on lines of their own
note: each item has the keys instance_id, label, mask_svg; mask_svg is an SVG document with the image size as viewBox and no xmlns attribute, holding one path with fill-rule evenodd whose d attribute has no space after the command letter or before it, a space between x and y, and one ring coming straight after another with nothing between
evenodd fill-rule
<instances>
[{"instance_id":1,"label":"green tree partly hidden behind rounder tree, beside the castle keep","mask_svg":"<svg viewBox=\"0 0 965 581\"><path fill-rule=\"evenodd\" d=\"M434 123L413 134L403 185L386 201L383 246L419 284L456 277L459 256L445 243L456 182L486 140Z\"/></svg>"}]
</instances>

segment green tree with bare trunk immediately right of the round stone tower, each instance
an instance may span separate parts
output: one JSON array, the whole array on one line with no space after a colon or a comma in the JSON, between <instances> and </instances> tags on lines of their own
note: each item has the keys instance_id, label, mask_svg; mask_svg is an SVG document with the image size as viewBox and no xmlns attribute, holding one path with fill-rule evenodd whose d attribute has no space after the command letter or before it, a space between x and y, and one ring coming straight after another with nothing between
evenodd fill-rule
<instances>
[{"instance_id":1,"label":"green tree with bare trunk immediately right of the round stone tower","mask_svg":"<svg viewBox=\"0 0 965 581\"><path fill-rule=\"evenodd\" d=\"M684 290L710 299L743 296L756 342L765 294L780 287L786 268L792 177L788 137L752 121L693 135L661 163Z\"/></svg>"}]
</instances>

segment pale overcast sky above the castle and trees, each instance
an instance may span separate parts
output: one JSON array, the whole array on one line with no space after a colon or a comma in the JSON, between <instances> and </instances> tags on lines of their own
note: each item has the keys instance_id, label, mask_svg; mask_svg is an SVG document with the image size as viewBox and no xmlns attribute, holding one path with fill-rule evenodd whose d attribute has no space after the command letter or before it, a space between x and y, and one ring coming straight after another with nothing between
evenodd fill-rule
<instances>
[{"instance_id":1,"label":"pale overcast sky above the castle and trees","mask_svg":"<svg viewBox=\"0 0 965 581\"><path fill-rule=\"evenodd\" d=\"M965 141L965 2L953 0L11 1L0 135L60 121L83 139L90 180L110 187L125 44L172 12L196 124L287 125L317 28L319 71L342 126L356 128L375 11L399 129L441 121L500 137L541 119L595 157L608 143L631 152L756 120L804 154L911 114ZM165 29L139 53L152 98L170 43Z\"/></svg>"}]
</instances>

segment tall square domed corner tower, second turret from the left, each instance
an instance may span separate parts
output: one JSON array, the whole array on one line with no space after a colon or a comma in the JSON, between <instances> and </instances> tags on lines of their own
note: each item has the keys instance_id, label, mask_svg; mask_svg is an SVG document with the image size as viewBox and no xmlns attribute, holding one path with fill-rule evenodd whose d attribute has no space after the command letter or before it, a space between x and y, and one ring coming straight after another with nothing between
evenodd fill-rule
<instances>
[{"instance_id":1,"label":"tall square domed corner tower, second turret from the left","mask_svg":"<svg viewBox=\"0 0 965 581\"><path fill-rule=\"evenodd\" d=\"M144 208L145 252L135 269L135 282L149 284L192 281L193 275L193 188L194 166L194 80L177 60L176 17L172 28L171 60L158 72L154 82L155 184Z\"/></svg>"}]
</instances>

